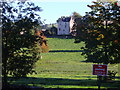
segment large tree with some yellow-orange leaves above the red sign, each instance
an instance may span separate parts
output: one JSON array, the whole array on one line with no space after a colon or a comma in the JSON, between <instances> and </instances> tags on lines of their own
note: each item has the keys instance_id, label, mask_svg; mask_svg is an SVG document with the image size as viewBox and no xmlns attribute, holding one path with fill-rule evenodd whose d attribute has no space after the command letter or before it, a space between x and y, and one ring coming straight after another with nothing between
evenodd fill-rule
<instances>
[{"instance_id":1,"label":"large tree with some yellow-orange leaves above the red sign","mask_svg":"<svg viewBox=\"0 0 120 90\"><path fill-rule=\"evenodd\" d=\"M82 55L94 63L120 63L120 7L115 3L93 3L85 16L87 26L79 28L82 36L78 39L85 42Z\"/></svg>"}]
</instances>

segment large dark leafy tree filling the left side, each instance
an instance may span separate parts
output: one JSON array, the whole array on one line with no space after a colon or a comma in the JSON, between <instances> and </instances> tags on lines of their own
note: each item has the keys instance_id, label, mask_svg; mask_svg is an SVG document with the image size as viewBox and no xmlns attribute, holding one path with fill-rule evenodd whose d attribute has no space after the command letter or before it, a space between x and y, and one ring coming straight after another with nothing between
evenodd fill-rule
<instances>
[{"instance_id":1,"label":"large dark leafy tree filling the left side","mask_svg":"<svg viewBox=\"0 0 120 90\"><path fill-rule=\"evenodd\" d=\"M37 39L32 32L40 24L36 14L41 8L32 2L2 2L2 75L3 85L7 77L24 77L32 74L34 64L39 60ZM14 7L14 6L16 7Z\"/></svg>"}]
</instances>

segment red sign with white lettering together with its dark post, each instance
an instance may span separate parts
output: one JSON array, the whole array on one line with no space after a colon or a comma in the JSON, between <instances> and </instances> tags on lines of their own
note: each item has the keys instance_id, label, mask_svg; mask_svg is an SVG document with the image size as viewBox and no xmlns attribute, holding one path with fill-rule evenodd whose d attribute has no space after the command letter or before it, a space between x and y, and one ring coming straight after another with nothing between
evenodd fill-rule
<instances>
[{"instance_id":1,"label":"red sign with white lettering together with its dark post","mask_svg":"<svg viewBox=\"0 0 120 90\"><path fill-rule=\"evenodd\" d=\"M100 90L102 76L107 75L107 65L93 64L93 75L97 75L98 90Z\"/></svg>"}]
</instances>

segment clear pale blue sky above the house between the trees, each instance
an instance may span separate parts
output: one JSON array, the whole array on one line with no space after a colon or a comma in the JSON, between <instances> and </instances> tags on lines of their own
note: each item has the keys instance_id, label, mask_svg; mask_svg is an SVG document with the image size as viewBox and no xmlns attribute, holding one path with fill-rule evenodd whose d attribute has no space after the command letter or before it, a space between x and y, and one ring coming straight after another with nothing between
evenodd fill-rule
<instances>
[{"instance_id":1,"label":"clear pale blue sky above the house between the trees","mask_svg":"<svg viewBox=\"0 0 120 90\"><path fill-rule=\"evenodd\" d=\"M77 12L80 15L84 16L85 12L91 11L87 5L92 4L92 0L82 0L82 1L38 1L34 2L35 5L41 7L43 9L40 12L41 20L44 21L45 24L56 23L58 18L61 16L70 16L73 12Z\"/></svg>"}]
</instances>

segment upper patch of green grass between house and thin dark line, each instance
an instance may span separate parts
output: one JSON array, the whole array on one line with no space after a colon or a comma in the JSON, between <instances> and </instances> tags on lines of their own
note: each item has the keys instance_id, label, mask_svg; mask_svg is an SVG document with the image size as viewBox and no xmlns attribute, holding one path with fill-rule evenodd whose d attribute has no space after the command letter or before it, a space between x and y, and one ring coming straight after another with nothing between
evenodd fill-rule
<instances>
[{"instance_id":1,"label":"upper patch of green grass between house and thin dark line","mask_svg":"<svg viewBox=\"0 0 120 90\"><path fill-rule=\"evenodd\" d=\"M75 44L74 39L48 38L50 50L80 50L84 42Z\"/></svg>"}]
</instances>

